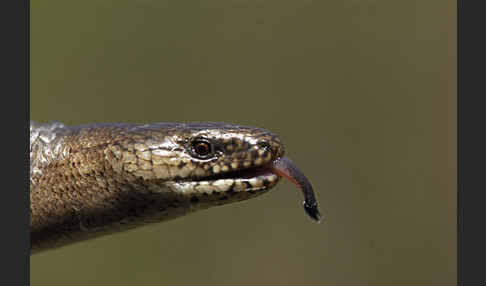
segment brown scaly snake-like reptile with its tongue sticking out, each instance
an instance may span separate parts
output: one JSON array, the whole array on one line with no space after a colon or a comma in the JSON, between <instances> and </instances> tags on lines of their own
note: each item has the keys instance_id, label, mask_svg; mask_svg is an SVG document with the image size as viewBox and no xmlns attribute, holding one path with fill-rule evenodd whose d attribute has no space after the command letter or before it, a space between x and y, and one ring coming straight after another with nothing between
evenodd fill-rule
<instances>
[{"instance_id":1,"label":"brown scaly snake-like reptile with its tongue sticking out","mask_svg":"<svg viewBox=\"0 0 486 286\"><path fill-rule=\"evenodd\" d=\"M31 253L259 196L307 179L264 129L226 123L30 124Z\"/></svg>"}]
</instances>

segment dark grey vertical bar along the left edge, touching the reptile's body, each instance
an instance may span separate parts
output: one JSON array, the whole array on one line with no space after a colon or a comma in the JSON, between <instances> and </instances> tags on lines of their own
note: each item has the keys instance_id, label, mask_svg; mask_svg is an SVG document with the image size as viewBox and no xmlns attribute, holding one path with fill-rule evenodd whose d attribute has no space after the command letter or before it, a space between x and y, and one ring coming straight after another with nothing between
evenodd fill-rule
<instances>
[{"instance_id":1,"label":"dark grey vertical bar along the left edge, touching the reptile's body","mask_svg":"<svg viewBox=\"0 0 486 286\"><path fill-rule=\"evenodd\" d=\"M29 0L0 2L1 285L29 285Z\"/></svg>"}]
</instances>

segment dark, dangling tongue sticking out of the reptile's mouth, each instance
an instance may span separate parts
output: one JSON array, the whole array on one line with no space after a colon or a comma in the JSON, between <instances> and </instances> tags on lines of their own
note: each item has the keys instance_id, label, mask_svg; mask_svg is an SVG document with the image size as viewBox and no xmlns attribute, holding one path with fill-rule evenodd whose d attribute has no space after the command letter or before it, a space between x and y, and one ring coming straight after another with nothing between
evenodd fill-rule
<instances>
[{"instance_id":1,"label":"dark, dangling tongue sticking out of the reptile's mouth","mask_svg":"<svg viewBox=\"0 0 486 286\"><path fill-rule=\"evenodd\" d=\"M290 161L287 157L282 157L273 162L271 172L277 176L285 177L292 183L296 184L304 194L304 209L306 213L316 220L318 223L321 221L321 214L317 209L317 202L314 196L314 190L309 180L304 174L297 169L297 166Z\"/></svg>"}]
</instances>

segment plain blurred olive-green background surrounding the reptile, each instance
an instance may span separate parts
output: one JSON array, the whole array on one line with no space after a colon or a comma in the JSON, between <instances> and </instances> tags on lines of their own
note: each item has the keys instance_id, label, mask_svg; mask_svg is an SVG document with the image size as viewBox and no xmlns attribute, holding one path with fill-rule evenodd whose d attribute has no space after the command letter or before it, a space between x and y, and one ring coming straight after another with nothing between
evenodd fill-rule
<instances>
[{"instance_id":1,"label":"plain blurred olive-green background surrounding the reptile","mask_svg":"<svg viewBox=\"0 0 486 286\"><path fill-rule=\"evenodd\" d=\"M253 200L31 257L41 285L456 285L456 1L32 0L31 119L280 135Z\"/></svg>"}]
</instances>

